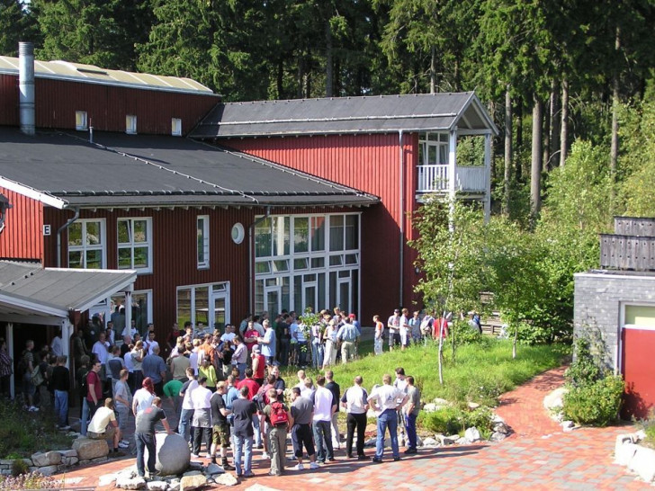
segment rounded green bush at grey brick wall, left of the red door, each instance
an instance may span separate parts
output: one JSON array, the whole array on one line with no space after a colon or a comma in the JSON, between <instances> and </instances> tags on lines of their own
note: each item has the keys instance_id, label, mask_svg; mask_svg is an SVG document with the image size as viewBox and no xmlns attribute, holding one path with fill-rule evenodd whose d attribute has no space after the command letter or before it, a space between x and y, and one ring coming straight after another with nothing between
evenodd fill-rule
<instances>
[{"instance_id":1,"label":"rounded green bush at grey brick wall, left of the red door","mask_svg":"<svg viewBox=\"0 0 655 491\"><path fill-rule=\"evenodd\" d=\"M570 385L563 400L564 417L577 424L606 426L618 418L623 393L624 380L620 375Z\"/></svg>"}]
</instances>

